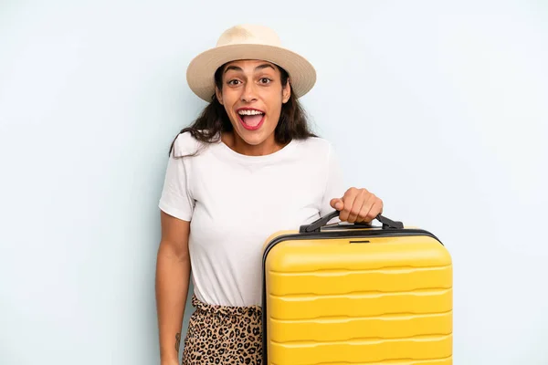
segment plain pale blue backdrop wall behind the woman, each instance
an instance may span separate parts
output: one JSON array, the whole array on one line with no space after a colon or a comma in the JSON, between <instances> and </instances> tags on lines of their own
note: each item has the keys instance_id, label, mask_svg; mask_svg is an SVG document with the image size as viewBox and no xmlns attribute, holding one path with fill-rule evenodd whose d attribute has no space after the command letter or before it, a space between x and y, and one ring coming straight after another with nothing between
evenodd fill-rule
<instances>
[{"instance_id":1,"label":"plain pale blue backdrop wall behind the woman","mask_svg":"<svg viewBox=\"0 0 548 365\"><path fill-rule=\"evenodd\" d=\"M317 68L302 102L348 186L448 247L454 363L548 364L541 0L0 2L0 363L158 363L157 203L205 106L185 70L239 23Z\"/></svg>"}]
</instances>

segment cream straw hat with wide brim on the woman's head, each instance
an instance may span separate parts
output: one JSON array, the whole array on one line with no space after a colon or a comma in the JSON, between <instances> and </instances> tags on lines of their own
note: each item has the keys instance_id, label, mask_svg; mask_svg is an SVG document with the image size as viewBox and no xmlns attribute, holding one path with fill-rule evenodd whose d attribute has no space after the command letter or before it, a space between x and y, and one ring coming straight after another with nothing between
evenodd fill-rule
<instances>
[{"instance_id":1,"label":"cream straw hat with wide brim on the woman's head","mask_svg":"<svg viewBox=\"0 0 548 365\"><path fill-rule=\"evenodd\" d=\"M188 86L201 99L211 101L215 93L216 69L238 59L261 59L284 68L290 74L291 89L297 98L309 92L316 82L316 71L311 63L282 47L279 36L272 29L240 25L227 29L219 37L216 47L190 62L186 70Z\"/></svg>"}]
</instances>

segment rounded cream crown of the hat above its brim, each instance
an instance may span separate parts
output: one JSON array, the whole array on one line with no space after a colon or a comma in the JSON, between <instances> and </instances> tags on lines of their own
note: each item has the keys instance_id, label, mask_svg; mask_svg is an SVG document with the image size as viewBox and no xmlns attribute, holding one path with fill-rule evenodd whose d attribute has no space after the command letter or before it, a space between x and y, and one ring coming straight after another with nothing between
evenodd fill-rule
<instances>
[{"instance_id":1,"label":"rounded cream crown of the hat above its brim","mask_svg":"<svg viewBox=\"0 0 548 365\"><path fill-rule=\"evenodd\" d=\"M219 37L216 47L242 44L281 46L279 36L269 27L246 24L228 28Z\"/></svg>"}]
</instances>

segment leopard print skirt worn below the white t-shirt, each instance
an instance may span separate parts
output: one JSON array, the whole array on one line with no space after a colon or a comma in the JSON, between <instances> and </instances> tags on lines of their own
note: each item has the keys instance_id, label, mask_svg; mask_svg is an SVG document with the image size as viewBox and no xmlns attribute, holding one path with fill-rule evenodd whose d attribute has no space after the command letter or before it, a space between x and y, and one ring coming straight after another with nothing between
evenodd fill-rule
<instances>
[{"instance_id":1,"label":"leopard print skirt worn below the white t-shirt","mask_svg":"<svg viewBox=\"0 0 548 365\"><path fill-rule=\"evenodd\" d=\"M211 306L195 296L192 305L183 365L262 363L260 307Z\"/></svg>"}]
</instances>

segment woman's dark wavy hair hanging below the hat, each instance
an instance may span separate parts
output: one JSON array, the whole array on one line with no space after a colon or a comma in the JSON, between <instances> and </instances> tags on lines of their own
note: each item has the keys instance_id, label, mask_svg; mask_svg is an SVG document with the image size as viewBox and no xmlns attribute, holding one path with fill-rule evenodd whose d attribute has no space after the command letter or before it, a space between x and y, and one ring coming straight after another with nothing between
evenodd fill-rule
<instances>
[{"instance_id":1,"label":"woman's dark wavy hair hanging below the hat","mask_svg":"<svg viewBox=\"0 0 548 365\"><path fill-rule=\"evenodd\" d=\"M223 70L226 66L227 64L216 69L215 84L218 89L222 89ZM282 87L285 87L290 79L290 75L284 68L280 68L278 65L276 65L276 67L279 69L281 85ZM181 130L177 136L175 136L169 154L171 154L174 149L174 142L178 135L184 132L190 132L198 141L212 143L218 141L221 132L232 130L233 127L228 119L227 110L225 110L225 107L216 99L216 95L214 94L211 98L211 102L202 110L202 113L194 123ZM311 131L305 110L302 108L293 92L291 92L288 102L281 106L278 125L274 130L275 141L281 145L285 145L291 140L304 140L309 137L317 136Z\"/></svg>"}]
</instances>

